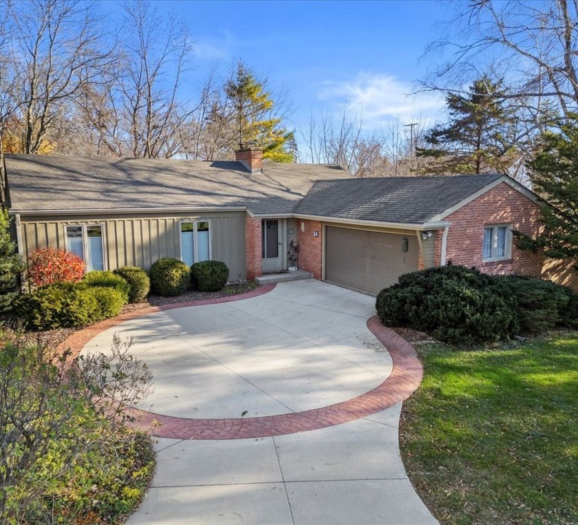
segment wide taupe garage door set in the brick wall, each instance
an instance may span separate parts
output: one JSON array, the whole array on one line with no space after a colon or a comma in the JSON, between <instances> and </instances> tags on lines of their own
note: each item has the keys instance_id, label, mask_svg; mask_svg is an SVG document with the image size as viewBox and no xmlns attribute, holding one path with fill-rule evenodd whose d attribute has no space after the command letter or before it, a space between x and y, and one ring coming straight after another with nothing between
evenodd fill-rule
<instances>
[{"instance_id":1,"label":"wide taupe garage door set in the brick wall","mask_svg":"<svg viewBox=\"0 0 578 525\"><path fill-rule=\"evenodd\" d=\"M400 275L418 270L418 261L415 235L325 228L325 280L331 283L376 295Z\"/></svg>"}]
</instances>

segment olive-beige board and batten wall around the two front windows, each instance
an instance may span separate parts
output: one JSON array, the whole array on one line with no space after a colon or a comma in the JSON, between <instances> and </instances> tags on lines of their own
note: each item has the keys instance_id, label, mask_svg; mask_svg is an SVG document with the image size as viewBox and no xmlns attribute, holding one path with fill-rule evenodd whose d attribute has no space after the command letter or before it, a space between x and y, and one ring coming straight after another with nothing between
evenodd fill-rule
<instances>
[{"instance_id":1,"label":"olive-beige board and batten wall around the two front windows","mask_svg":"<svg viewBox=\"0 0 578 525\"><path fill-rule=\"evenodd\" d=\"M78 224L103 225L105 267L139 266L148 270L161 257L180 259L180 223L208 221L211 258L224 261L229 279L246 278L245 213L202 213L189 215L92 215L54 220L48 216L21 216L21 251L35 248L66 248L65 227Z\"/></svg>"}]
</instances>

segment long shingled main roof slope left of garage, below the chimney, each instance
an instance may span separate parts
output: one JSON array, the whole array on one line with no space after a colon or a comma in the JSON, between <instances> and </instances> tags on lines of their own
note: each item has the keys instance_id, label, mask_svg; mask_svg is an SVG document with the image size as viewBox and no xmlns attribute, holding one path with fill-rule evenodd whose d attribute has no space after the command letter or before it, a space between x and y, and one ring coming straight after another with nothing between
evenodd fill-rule
<instances>
[{"instance_id":1,"label":"long shingled main roof slope left of garage, below the chimney","mask_svg":"<svg viewBox=\"0 0 578 525\"><path fill-rule=\"evenodd\" d=\"M289 214L315 181L351 178L339 166L8 155L11 211L246 206L255 214Z\"/></svg>"}]
</instances>

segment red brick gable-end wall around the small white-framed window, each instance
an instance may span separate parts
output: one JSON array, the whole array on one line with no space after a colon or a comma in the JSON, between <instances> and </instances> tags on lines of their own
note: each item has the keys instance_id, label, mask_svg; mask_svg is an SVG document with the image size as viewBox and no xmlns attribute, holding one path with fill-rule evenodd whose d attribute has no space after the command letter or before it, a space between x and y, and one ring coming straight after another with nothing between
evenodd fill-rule
<instances>
[{"instance_id":1,"label":"red brick gable-end wall around the small white-framed window","mask_svg":"<svg viewBox=\"0 0 578 525\"><path fill-rule=\"evenodd\" d=\"M474 175L472 175L474 176ZM512 257L504 261L482 262L484 226L511 224L514 230L535 236L540 228L539 206L522 193L502 182L466 206L445 217L451 223L447 237L447 261L475 266L490 274L533 275L542 272L544 256L518 250L512 246ZM436 235L436 265L441 261L442 232Z\"/></svg>"}]
</instances>

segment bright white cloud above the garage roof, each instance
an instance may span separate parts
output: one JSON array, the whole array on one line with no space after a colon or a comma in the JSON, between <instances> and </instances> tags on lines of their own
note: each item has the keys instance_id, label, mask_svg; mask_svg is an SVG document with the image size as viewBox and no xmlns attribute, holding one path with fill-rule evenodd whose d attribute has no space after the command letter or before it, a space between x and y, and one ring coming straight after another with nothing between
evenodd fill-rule
<instances>
[{"instance_id":1,"label":"bright white cloud above the garage roof","mask_svg":"<svg viewBox=\"0 0 578 525\"><path fill-rule=\"evenodd\" d=\"M364 126L379 127L387 120L411 120L420 116L433 122L444 107L442 96L434 93L411 95L411 83L392 75L361 72L346 81L325 81L318 98L330 106L345 107L363 118Z\"/></svg>"}]
</instances>

